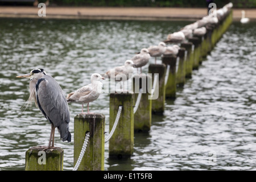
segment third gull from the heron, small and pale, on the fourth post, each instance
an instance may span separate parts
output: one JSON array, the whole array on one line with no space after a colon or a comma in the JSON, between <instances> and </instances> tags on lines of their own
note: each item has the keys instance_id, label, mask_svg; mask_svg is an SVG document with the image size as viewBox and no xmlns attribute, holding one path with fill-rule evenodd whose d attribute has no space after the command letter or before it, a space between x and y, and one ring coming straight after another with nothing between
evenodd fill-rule
<instances>
[{"instance_id":1,"label":"third gull from the heron, small and pale, on the fourth post","mask_svg":"<svg viewBox=\"0 0 256 182\"><path fill-rule=\"evenodd\" d=\"M142 73L142 67L148 63L148 60L150 59L150 53L147 48L142 48L141 52L139 52L137 55L133 56L131 60L136 65L135 68L141 68Z\"/></svg>"}]
</instances>

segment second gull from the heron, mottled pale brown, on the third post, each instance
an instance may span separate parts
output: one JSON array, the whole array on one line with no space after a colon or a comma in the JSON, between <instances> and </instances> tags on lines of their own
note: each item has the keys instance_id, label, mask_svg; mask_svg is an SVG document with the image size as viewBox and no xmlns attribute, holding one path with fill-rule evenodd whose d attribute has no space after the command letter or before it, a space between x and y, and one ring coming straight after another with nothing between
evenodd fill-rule
<instances>
[{"instance_id":1,"label":"second gull from the heron, mottled pale brown, on the third post","mask_svg":"<svg viewBox=\"0 0 256 182\"><path fill-rule=\"evenodd\" d=\"M108 72L102 74L102 76L115 80L115 81L123 81L123 84L126 80L129 80L129 75L133 74L134 67L136 65L133 63L132 60L126 60L125 65L120 67L115 67L110 69ZM123 90L123 86L120 85L120 88Z\"/></svg>"}]
</instances>

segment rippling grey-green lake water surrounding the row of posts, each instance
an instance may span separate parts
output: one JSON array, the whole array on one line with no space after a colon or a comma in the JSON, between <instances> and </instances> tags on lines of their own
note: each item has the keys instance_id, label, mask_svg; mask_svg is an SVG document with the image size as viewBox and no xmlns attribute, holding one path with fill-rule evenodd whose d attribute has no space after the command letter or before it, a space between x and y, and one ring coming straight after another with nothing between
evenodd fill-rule
<instances>
[{"instance_id":1,"label":"rippling grey-green lake water surrounding the row of posts","mask_svg":"<svg viewBox=\"0 0 256 182\"><path fill-rule=\"evenodd\" d=\"M16 75L44 68L69 93L188 23L0 19L0 169L24 170L26 150L47 145L51 131L39 109L25 109L28 80ZM255 169L254 31L253 23L233 23L176 100L166 101L164 115L152 116L151 131L135 134L131 159L109 159L105 144L105 170ZM81 105L69 107L73 136ZM90 110L105 114L108 132L109 94ZM64 170L71 170L73 142L56 134L55 143L64 149Z\"/></svg>"}]
</instances>

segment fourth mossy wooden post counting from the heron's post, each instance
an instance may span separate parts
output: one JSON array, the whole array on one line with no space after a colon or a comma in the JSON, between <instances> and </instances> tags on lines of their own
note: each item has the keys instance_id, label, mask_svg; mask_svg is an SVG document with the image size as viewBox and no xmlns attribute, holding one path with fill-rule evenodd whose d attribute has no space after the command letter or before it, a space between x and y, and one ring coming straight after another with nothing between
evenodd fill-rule
<instances>
[{"instance_id":1,"label":"fourth mossy wooden post counting from the heron's post","mask_svg":"<svg viewBox=\"0 0 256 182\"><path fill-rule=\"evenodd\" d=\"M149 97L151 96L152 77L142 73L141 75L134 75L132 81L134 105L137 101L139 89L142 88L141 102L139 102L138 109L134 114L134 131L149 131L151 127L152 109L152 100Z\"/></svg>"}]
</instances>

